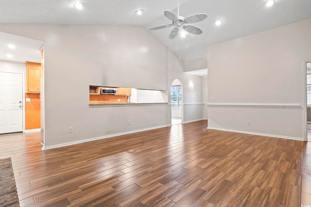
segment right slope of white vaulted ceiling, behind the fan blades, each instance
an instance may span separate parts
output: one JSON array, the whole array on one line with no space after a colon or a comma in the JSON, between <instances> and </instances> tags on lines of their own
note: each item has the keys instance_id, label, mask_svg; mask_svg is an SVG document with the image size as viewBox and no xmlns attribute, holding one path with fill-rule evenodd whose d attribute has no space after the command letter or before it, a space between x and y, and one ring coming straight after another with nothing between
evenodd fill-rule
<instances>
[{"instance_id":1,"label":"right slope of white vaulted ceiling, behind the fan blades","mask_svg":"<svg viewBox=\"0 0 311 207\"><path fill-rule=\"evenodd\" d=\"M311 18L311 0L276 0L272 7L266 7L265 1L190 0L180 6L179 13L184 17L206 13L206 20L193 24L203 30L201 35L190 34L184 39L169 40L171 28L151 32L182 60L188 61L206 56L208 45ZM216 26L217 19L223 24ZM170 21L162 15L146 28L167 23Z\"/></svg>"}]
</instances>

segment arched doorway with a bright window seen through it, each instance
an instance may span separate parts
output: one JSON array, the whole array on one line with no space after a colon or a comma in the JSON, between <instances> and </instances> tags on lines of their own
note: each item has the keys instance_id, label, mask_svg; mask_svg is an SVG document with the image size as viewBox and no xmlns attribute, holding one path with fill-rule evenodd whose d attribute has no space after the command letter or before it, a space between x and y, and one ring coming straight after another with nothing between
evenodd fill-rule
<instances>
[{"instance_id":1,"label":"arched doorway with a bright window seen through it","mask_svg":"<svg viewBox=\"0 0 311 207\"><path fill-rule=\"evenodd\" d=\"M183 123L182 96L182 83L180 80L175 79L171 84L172 125Z\"/></svg>"}]
</instances>

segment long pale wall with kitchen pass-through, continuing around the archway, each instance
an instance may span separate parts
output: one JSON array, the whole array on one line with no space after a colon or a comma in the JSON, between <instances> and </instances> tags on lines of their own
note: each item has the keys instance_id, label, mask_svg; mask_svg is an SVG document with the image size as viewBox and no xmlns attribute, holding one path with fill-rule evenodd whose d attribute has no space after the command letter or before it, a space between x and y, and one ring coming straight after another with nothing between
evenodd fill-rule
<instances>
[{"instance_id":1,"label":"long pale wall with kitchen pass-through, continuing around the archway","mask_svg":"<svg viewBox=\"0 0 311 207\"><path fill-rule=\"evenodd\" d=\"M44 148L171 125L168 104L90 107L89 85L162 90L167 96L178 78L195 83L196 90L185 88L184 100L202 102L202 77L184 74L173 52L143 27L2 24L0 31L44 41ZM203 117L200 105L189 108L187 121Z\"/></svg>"}]
</instances>

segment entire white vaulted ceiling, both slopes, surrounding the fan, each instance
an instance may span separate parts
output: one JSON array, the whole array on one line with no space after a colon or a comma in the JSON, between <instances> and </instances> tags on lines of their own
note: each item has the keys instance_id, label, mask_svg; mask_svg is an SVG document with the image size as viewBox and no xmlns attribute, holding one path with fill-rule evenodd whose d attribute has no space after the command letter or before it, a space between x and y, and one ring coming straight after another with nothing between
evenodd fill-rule
<instances>
[{"instance_id":1,"label":"entire white vaulted ceiling, both slopes, surrounding the fan","mask_svg":"<svg viewBox=\"0 0 311 207\"><path fill-rule=\"evenodd\" d=\"M272 7L266 7L265 1L179 0L180 16L208 15L206 20L193 23L203 34L169 40L173 28L150 33L188 61L205 57L208 45L311 18L311 0L275 0ZM77 0L1 1L0 23L137 25L147 29L171 23L163 15L164 10L177 13L177 0L81 0L85 3L83 10L76 10L74 2ZM138 9L144 10L143 15L135 14ZM216 26L217 19L223 24Z\"/></svg>"}]
</instances>

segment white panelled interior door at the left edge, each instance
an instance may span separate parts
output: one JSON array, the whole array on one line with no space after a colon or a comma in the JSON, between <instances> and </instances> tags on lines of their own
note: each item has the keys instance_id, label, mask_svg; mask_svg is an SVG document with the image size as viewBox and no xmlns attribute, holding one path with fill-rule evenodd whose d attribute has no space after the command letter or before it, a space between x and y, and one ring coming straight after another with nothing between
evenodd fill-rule
<instances>
[{"instance_id":1,"label":"white panelled interior door at the left edge","mask_svg":"<svg viewBox=\"0 0 311 207\"><path fill-rule=\"evenodd\" d=\"M0 134L23 131L22 74L0 72Z\"/></svg>"}]
</instances>

